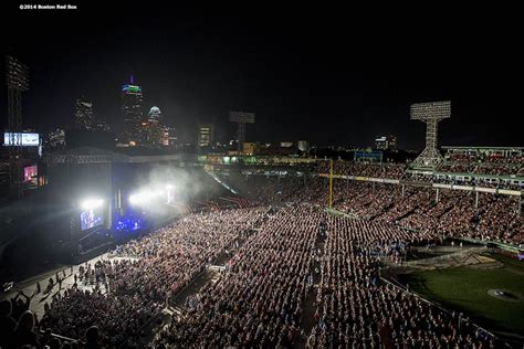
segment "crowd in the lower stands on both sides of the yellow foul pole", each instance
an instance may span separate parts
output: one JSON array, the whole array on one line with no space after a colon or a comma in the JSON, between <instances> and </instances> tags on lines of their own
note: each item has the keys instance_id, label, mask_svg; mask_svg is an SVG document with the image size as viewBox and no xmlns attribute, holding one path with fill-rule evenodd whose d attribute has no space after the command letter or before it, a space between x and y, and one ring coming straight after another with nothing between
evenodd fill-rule
<instances>
[{"instance_id":1,"label":"crowd in the lower stands on both sides of the yellow foul pole","mask_svg":"<svg viewBox=\"0 0 524 349\"><path fill-rule=\"evenodd\" d=\"M253 204L312 202L328 204L326 178L245 178L235 183L252 186ZM370 221L398 224L446 236L464 236L520 245L524 243L524 218L518 197L394 186L336 179L333 205L340 212Z\"/></svg>"}]
</instances>

